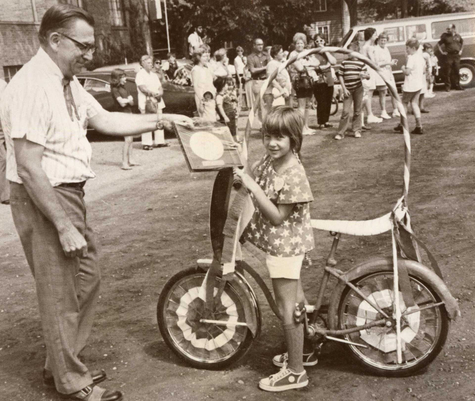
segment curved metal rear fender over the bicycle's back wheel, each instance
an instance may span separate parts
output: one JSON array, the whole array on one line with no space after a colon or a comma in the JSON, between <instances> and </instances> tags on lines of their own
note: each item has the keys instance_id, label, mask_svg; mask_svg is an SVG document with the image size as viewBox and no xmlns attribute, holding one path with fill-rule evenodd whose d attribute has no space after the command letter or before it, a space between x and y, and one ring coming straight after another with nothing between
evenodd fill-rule
<instances>
[{"instance_id":1,"label":"curved metal rear fender over the bicycle's back wheel","mask_svg":"<svg viewBox=\"0 0 475 401\"><path fill-rule=\"evenodd\" d=\"M431 269L410 259L398 259L398 264L404 264L411 276L417 277L431 286L440 299L444 302L447 310L447 315L450 319L456 319L460 314L456 299L450 294L444 281L437 276ZM358 266L345 272L338 281L338 284L333 288L330 296L330 303L328 306L328 326L332 330L337 329L338 325L338 305L342 297L343 290L346 283L353 281L359 277L367 276L371 273L380 271L392 272L392 258L374 258L361 263Z\"/></svg>"}]
</instances>

